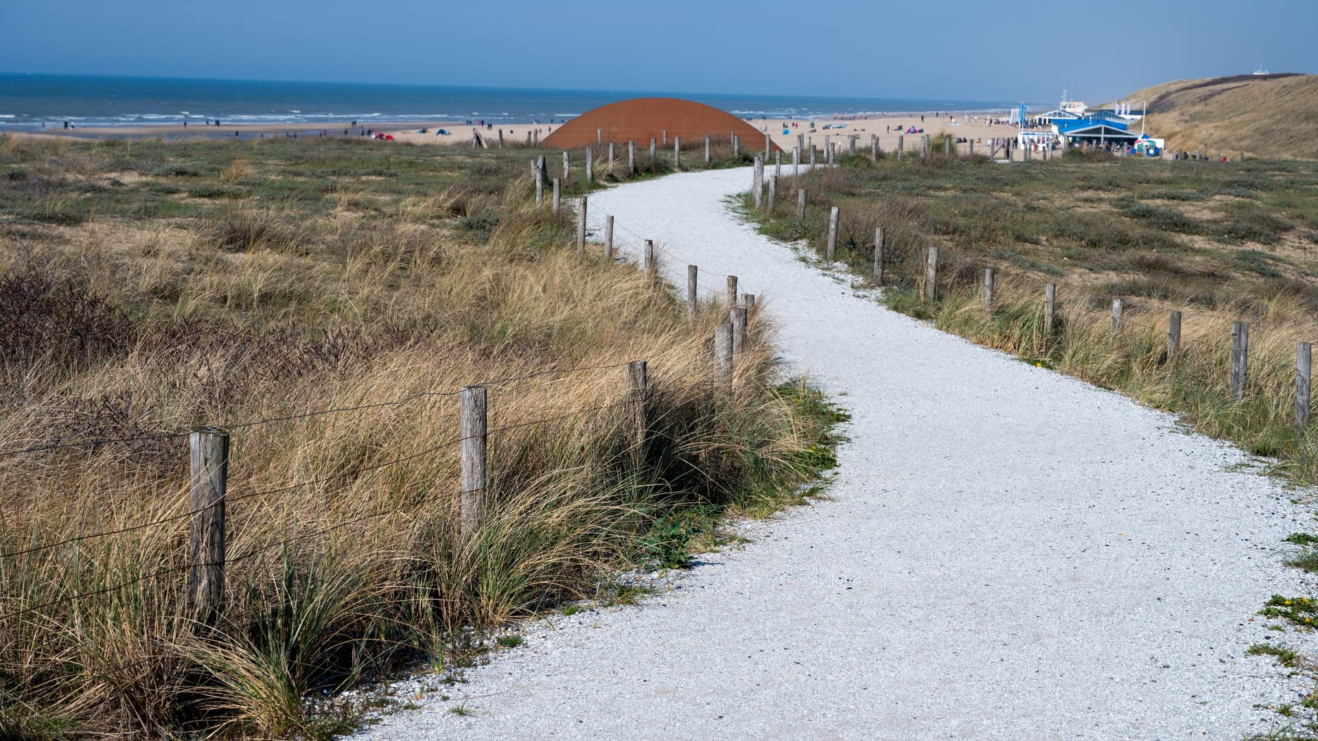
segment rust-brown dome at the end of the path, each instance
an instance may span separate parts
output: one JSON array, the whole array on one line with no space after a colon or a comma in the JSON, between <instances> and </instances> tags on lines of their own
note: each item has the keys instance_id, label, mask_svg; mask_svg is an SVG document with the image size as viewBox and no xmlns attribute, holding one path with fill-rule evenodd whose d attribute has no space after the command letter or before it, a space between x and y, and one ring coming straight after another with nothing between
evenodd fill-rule
<instances>
[{"instance_id":1,"label":"rust-brown dome at the end of the path","mask_svg":"<svg viewBox=\"0 0 1318 741\"><path fill-rule=\"evenodd\" d=\"M633 98L609 103L563 124L540 144L575 149L594 144L597 131L601 141L635 141L642 146L650 146L651 137L663 141L664 131L670 142L681 137L691 144L704 141L705 136L729 141L731 134L737 134L742 152L764 150L764 133L755 127L718 108L679 98ZM783 150L772 142L770 146L774 152Z\"/></svg>"}]
</instances>

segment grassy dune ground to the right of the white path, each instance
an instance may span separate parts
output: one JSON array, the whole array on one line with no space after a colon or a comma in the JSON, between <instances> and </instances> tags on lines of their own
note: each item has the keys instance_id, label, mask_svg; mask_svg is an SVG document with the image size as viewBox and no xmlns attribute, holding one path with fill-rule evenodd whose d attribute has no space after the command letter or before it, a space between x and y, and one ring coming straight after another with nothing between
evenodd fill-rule
<instances>
[{"instance_id":1,"label":"grassy dune ground to the right of the white path","mask_svg":"<svg viewBox=\"0 0 1318 741\"><path fill-rule=\"evenodd\" d=\"M941 152L936 142L933 152ZM1195 429L1277 458L1318 481L1314 431L1294 430L1296 341L1318 339L1318 165L1145 162L1073 152L1048 162L983 157L845 158L783 186L763 229L822 252L841 210L838 260L873 280L886 241L884 301L1031 363L1177 411ZM795 189L808 194L804 224ZM938 299L927 303L925 248L938 245ZM996 273L986 315L985 268ZM1057 326L1044 336L1044 286ZM1111 301L1123 298L1112 335ZM1168 359L1168 311L1184 312ZM1249 386L1230 398L1230 324L1249 322Z\"/></svg>"}]
</instances>

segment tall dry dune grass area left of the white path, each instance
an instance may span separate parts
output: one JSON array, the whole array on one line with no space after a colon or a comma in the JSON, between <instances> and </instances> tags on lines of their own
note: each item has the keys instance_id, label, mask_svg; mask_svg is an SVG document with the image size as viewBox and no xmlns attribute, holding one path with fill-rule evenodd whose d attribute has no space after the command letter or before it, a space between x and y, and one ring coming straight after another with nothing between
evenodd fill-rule
<instances>
[{"instance_id":1,"label":"tall dry dune grass area left of the white path","mask_svg":"<svg viewBox=\"0 0 1318 741\"><path fill-rule=\"evenodd\" d=\"M619 567L680 563L721 516L800 501L834 415L779 385L767 318L720 384L721 307L688 322L633 265L577 258L571 215L532 203L534 154L0 137L0 452L137 438L0 455L0 734L320 736L352 713L312 715L311 690L455 661ZM572 368L489 385L489 517L459 538L452 393ZM414 396L233 430L228 601L192 624L167 435Z\"/></svg>"}]
</instances>

